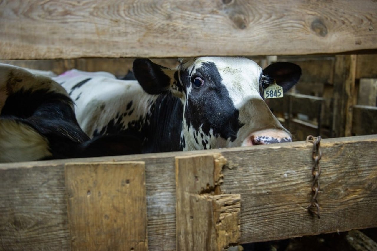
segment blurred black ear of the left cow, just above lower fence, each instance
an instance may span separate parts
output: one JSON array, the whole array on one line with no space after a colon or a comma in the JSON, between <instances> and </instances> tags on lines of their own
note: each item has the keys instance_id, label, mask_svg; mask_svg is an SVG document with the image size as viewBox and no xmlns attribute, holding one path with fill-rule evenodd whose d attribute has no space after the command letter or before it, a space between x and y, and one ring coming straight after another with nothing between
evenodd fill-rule
<instances>
[{"instance_id":1,"label":"blurred black ear of the left cow, just above lower fence","mask_svg":"<svg viewBox=\"0 0 377 251\"><path fill-rule=\"evenodd\" d=\"M103 135L80 146L79 158L139 154L142 141L128 135Z\"/></svg>"}]
</instances>

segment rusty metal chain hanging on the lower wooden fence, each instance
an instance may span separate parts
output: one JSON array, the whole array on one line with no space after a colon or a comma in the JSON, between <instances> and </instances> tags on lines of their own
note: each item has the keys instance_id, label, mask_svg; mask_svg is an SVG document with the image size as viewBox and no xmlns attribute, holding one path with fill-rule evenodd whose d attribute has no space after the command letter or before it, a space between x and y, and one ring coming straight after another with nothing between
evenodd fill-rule
<instances>
[{"instance_id":1,"label":"rusty metal chain hanging on the lower wooden fence","mask_svg":"<svg viewBox=\"0 0 377 251\"><path fill-rule=\"evenodd\" d=\"M321 141L321 136L314 137L312 135L309 135L307 137L307 142L313 143L313 160L314 160L314 165L311 171L311 173L313 174L313 185L311 186L313 196L311 198L311 204L308 206L308 211L312 214L316 214L318 218L319 218L319 204L318 204L317 196L318 196L319 188L320 188L319 175L321 174L321 166L319 164L319 161L322 158L320 141Z\"/></svg>"}]
</instances>

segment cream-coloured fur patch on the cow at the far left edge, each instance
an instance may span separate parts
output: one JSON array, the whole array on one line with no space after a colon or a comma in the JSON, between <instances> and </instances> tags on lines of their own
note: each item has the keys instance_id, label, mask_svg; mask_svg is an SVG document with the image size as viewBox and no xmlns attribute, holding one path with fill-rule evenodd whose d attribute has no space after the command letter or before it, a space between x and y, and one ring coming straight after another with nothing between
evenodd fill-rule
<instances>
[{"instance_id":1,"label":"cream-coloured fur patch on the cow at the far left edge","mask_svg":"<svg viewBox=\"0 0 377 251\"><path fill-rule=\"evenodd\" d=\"M0 162L51 157L48 140L32 127L12 119L0 119Z\"/></svg>"}]
</instances>

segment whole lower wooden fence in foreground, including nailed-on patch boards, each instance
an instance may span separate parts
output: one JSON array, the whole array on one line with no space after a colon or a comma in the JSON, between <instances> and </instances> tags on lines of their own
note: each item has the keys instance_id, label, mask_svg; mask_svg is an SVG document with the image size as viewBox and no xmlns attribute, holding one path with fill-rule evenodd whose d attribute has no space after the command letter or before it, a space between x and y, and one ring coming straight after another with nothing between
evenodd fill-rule
<instances>
[{"instance_id":1,"label":"whole lower wooden fence in foreground, including nailed-on patch boards","mask_svg":"<svg viewBox=\"0 0 377 251\"><path fill-rule=\"evenodd\" d=\"M0 243L5 250L222 250L377 227L377 135L324 139L321 147L320 219L307 210L313 146L303 141L2 164Z\"/></svg>"}]
</instances>

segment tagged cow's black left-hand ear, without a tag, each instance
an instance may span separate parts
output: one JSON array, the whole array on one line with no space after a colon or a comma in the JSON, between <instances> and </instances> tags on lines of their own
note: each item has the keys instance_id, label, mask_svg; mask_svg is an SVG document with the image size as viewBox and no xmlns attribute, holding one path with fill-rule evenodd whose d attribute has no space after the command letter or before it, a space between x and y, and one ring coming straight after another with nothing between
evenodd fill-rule
<instances>
[{"instance_id":1,"label":"tagged cow's black left-hand ear, without a tag","mask_svg":"<svg viewBox=\"0 0 377 251\"><path fill-rule=\"evenodd\" d=\"M153 63L147 58L133 61L133 75L149 94L160 94L170 90L174 70Z\"/></svg>"}]
</instances>

